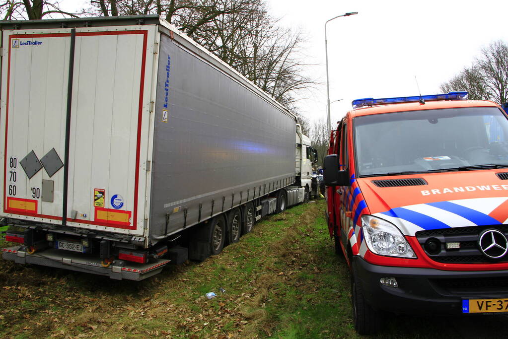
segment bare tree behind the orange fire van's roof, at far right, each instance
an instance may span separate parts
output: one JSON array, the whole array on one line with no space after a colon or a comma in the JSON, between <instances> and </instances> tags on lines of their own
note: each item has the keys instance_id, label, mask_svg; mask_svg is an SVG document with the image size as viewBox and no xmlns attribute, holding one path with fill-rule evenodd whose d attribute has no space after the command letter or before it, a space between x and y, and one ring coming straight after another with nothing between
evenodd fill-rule
<instances>
[{"instance_id":1,"label":"bare tree behind the orange fire van's roof, at far right","mask_svg":"<svg viewBox=\"0 0 508 339\"><path fill-rule=\"evenodd\" d=\"M481 56L471 67L465 67L451 80L441 84L443 92L467 91L473 100L493 100L499 104L508 100L508 45L492 42L483 48Z\"/></svg>"}]
</instances>

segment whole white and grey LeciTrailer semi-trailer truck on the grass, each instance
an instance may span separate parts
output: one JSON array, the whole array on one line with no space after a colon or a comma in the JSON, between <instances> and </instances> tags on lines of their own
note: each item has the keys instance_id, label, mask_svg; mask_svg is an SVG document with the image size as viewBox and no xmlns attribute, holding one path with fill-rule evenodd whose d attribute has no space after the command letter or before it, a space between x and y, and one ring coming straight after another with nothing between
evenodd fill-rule
<instances>
[{"instance_id":1,"label":"whole white and grey LeciTrailer semi-trailer truck on the grass","mask_svg":"<svg viewBox=\"0 0 508 339\"><path fill-rule=\"evenodd\" d=\"M4 259L141 280L308 195L295 117L158 16L0 25Z\"/></svg>"}]
</instances>

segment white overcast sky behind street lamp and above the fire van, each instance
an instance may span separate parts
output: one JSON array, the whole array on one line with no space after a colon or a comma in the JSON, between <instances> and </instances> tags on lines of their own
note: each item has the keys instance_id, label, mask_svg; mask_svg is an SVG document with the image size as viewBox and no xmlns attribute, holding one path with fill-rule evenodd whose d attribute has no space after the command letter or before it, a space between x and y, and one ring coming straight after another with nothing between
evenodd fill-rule
<instances>
[{"instance_id":1,"label":"white overcast sky behind street lamp and above the fire van","mask_svg":"<svg viewBox=\"0 0 508 339\"><path fill-rule=\"evenodd\" d=\"M505 0L266 0L281 24L301 29L308 74L321 82L299 103L310 120L326 121L325 21L345 12L358 15L328 23L332 125L362 97L439 91L439 85L471 64L482 47L508 42ZM82 8L87 1L61 4ZM69 10L72 10L69 8Z\"/></svg>"}]
</instances>

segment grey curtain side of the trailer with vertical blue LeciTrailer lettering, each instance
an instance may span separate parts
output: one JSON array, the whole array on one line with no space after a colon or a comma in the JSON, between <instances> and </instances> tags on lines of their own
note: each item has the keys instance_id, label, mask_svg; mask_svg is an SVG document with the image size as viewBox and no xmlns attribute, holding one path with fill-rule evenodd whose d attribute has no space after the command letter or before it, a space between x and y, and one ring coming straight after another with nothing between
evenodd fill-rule
<instances>
[{"instance_id":1,"label":"grey curtain side of the trailer with vertical blue LeciTrailer lettering","mask_svg":"<svg viewBox=\"0 0 508 339\"><path fill-rule=\"evenodd\" d=\"M294 118L164 34L158 58L152 243L295 176Z\"/></svg>"}]
</instances>

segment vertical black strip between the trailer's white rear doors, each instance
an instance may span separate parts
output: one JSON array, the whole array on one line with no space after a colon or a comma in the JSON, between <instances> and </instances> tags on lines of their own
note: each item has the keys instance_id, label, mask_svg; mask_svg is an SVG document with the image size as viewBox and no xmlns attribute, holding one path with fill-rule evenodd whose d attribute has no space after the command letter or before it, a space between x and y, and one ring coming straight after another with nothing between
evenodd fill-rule
<instances>
[{"instance_id":1,"label":"vertical black strip between the trailer's white rear doors","mask_svg":"<svg viewBox=\"0 0 508 339\"><path fill-rule=\"evenodd\" d=\"M74 78L74 49L76 28L71 29L71 50L69 51L69 82L67 83L67 113L65 124L65 155L63 156L63 206L62 226L67 225L67 196L69 194L69 143L71 139L72 82Z\"/></svg>"}]
</instances>

